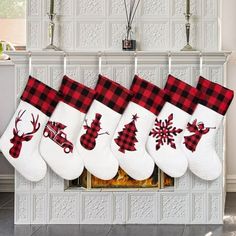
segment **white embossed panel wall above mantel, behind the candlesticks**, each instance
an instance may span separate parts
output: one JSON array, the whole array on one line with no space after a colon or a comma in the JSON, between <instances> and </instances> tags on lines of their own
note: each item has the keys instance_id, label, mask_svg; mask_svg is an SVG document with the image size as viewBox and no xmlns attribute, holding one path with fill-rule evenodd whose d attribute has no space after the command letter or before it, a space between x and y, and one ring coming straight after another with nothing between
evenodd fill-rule
<instances>
[{"instance_id":1,"label":"white embossed panel wall above mantel, behind the candlesticks","mask_svg":"<svg viewBox=\"0 0 236 236\"><path fill-rule=\"evenodd\" d=\"M219 49L220 0L191 0L191 44ZM41 50L49 43L49 0L28 0L27 45ZM125 33L123 0L56 0L55 44L67 51L120 50ZM186 44L185 0L141 0L134 22L139 50L179 50Z\"/></svg>"}]
</instances>

